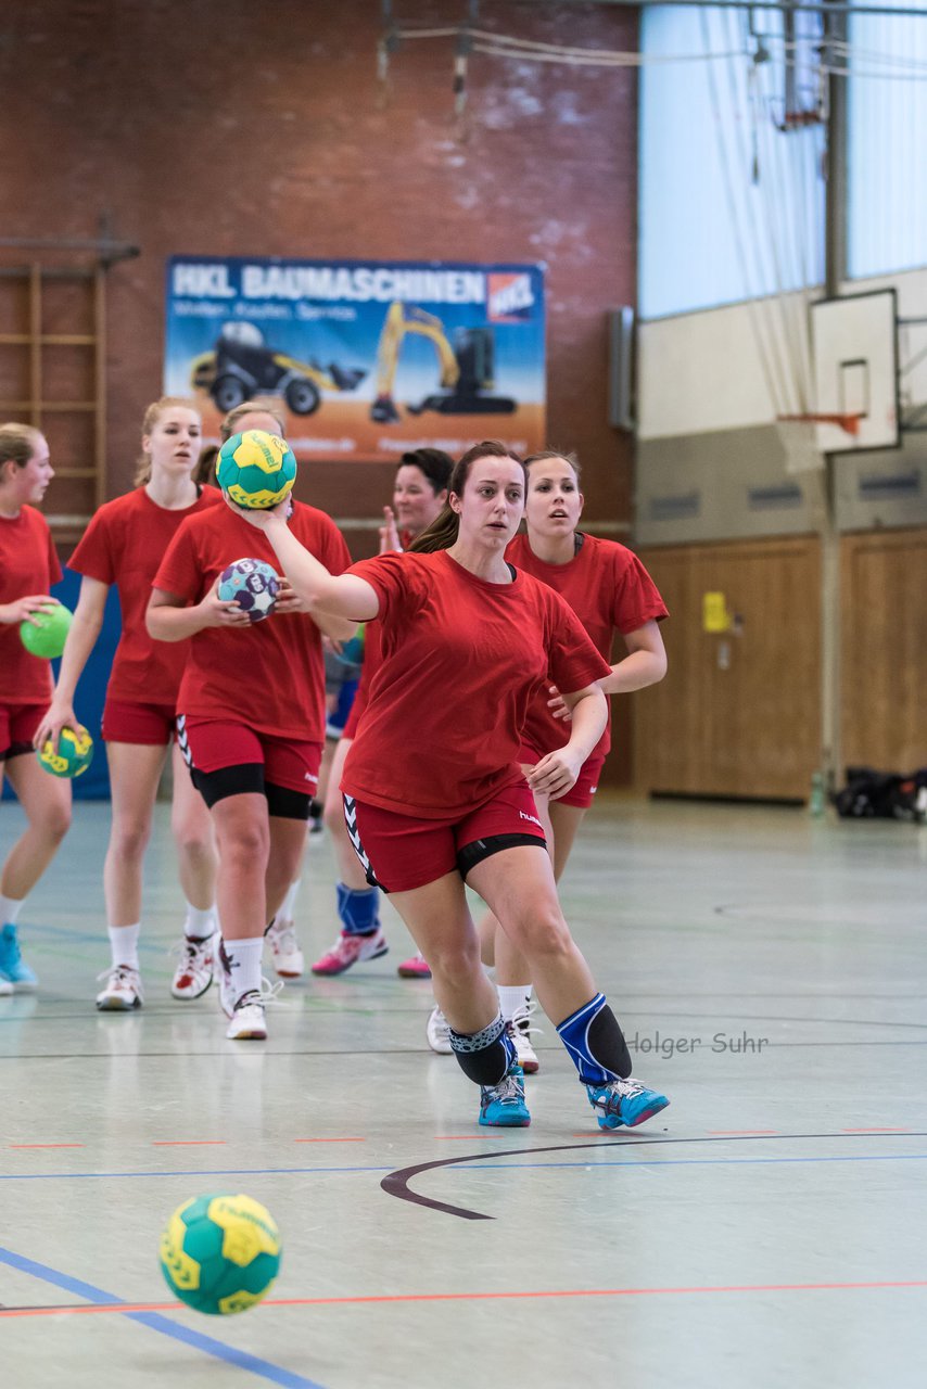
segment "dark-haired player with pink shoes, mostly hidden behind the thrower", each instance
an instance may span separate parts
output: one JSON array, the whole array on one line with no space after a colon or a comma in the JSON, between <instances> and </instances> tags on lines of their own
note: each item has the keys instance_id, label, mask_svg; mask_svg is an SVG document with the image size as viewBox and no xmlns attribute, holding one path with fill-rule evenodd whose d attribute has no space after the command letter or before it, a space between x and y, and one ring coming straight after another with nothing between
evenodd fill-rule
<instances>
[{"instance_id":1,"label":"dark-haired player with pink shoes, mostly hidden behind the thrower","mask_svg":"<svg viewBox=\"0 0 927 1389\"><path fill-rule=\"evenodd\" d=\"M448 500L452 458L441 449L416 449L399 460L393 483L393 504L384 507L384 526L379 532L379 553L389 554L409 547L413 538L439 515ZM338 915L342 931L335 945L313 965L313 974L343 974L363 960L377 960L386 954L388 945L379 922L379 889L371 888L364 870L357 863L341 795L341 778L360 717L367 707L370 686L381 665L379 626L368 622L364 632L364 664L343 733L338 740L328 778L325 797L325 825L328 826L339 881L335 885ZM421 954L403 960L397 967L402 978L431 978L431 970Z\"/></svg>"}]
</instances>

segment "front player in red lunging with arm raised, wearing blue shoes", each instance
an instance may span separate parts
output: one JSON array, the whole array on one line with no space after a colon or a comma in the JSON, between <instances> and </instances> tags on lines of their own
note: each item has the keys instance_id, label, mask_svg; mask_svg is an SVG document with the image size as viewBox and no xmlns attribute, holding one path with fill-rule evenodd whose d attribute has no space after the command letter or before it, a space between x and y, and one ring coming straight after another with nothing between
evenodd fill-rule
<instances>
[{"instance_id":1,"label":"front player in red lunging with arm raised, wearing blue shoes","mask_svg":"<svg viewBox=\"0 0 927 1389\"><path fill-rule=\"evenodd\" d=\"M605 731L596 682L609 667L563 599L504 558L524 488L504 444L478 444L454 465L448 508L410 553L339 576L279 508L247 519L315 608L379 618L384 660L345 763L345 817L371 881L393 895L432 968L454 1054L481 1088L479 1122L525 1125L530 1114L464 882L530 960L599 1125L632 1126L668 1101L630 1078L618 1022L563 920L532 796L575 783ZM571 710L570 736L525 775L521 728L549 678Z\"/></svg>"}]
</instances>

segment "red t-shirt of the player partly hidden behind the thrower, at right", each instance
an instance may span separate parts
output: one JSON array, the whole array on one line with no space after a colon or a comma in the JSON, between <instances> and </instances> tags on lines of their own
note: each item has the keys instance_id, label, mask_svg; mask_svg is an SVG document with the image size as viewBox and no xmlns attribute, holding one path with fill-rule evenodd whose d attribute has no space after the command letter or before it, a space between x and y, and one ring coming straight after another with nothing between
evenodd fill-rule
<instances>
[{"instance_id":1,"label":"red t-shirt of the player partly hidden behind the thrower, at right","mask_svg":"<svg viewBox=\"0 0 927 1389\"><path fill-rule=\"evenodd\" d=\"M612 663L612 642L616 628L623 635L637 632L645 622L662 621L668 611L656 583L637 554L614 540L600 540L584 535L580 553L567 564L548 564L531 549L527 535L517 535L506 550L506 558L517 569L532 574L566 599L592 643ZM559 681L555 681L559 685ZM563 747L570 738L570 725L555 718L548 708L546 689L536 699L525 721L524 742L538 753ZM593 749L605 756L612 746L612 706L609 722Z\"/></svg>"}]
</instances>

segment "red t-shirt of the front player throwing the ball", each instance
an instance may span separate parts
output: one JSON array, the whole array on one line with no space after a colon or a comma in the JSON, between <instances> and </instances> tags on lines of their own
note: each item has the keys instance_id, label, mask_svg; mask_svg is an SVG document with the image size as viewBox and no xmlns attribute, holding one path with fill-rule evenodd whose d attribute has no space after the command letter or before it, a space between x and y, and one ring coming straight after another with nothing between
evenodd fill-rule
<instances>
[{"instance_id":1,"label":"red t-shirt of the front player throwing the ball","mask_svg":"<svg viewBox=\"0 0 927 1389\"><path fill-rule=\"evenodd\" d=\"M381 554L350 572L377 592L382 646L342 781L360 801L466 815L524 779L521 726L548 671L566 692L609 672L567 604L531 575L489 583L445 550Z\"/></svg>"}]
</instances>

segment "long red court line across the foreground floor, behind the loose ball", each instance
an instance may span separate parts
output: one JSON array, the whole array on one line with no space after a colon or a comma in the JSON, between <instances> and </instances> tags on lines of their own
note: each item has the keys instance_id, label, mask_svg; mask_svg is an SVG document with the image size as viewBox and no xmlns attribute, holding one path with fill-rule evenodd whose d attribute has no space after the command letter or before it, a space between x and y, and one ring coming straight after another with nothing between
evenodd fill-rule
<instances>
[{"instance_id":1,"label":"long red court line across the foreground floor, behind the loose ball","mask_svg":"<svg viewBox=\"0 0 927 1389\"><path fill-rule=\"evenodd\" d=\"M927 1279L860 1283L731 1283L695 1288L561 1288L507 1293L391 1293L368 1297L267 1297L263 1307L357 1307L385 1303L531 1301L556 1297L678 1297L691 1293L816 1293L880 1292L888 1288L927 1288ZM0 1307L3 1317L74 1317L99 1313L181 1311L182 1303L83 1303L75 1307Z\"/></svg>"}]
</instances>

